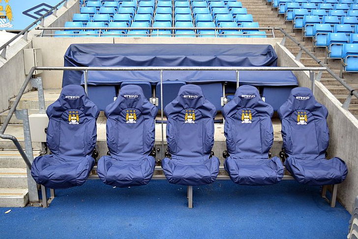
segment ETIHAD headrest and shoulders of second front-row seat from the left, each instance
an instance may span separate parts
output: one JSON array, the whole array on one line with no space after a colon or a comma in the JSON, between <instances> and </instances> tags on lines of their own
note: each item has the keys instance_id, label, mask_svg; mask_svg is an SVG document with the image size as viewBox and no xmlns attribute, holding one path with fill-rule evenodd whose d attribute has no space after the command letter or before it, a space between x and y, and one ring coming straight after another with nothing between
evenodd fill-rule
<instances>
[{"instance_id":1,"label":"ETIHAD headrest and shoulders of second front-row seat from the left","mask_svg":"<svg viewBox=\"0 0 358 239\"><path fill-rule=\"evenodd\" d=\"M127 108L140 110L144 117L146 115L155 117L157 114L156 107L147 100L142 88L137 85L126 85L120 88L116 101L106 107L105 114L107 117L112 114L117 116L120 111Z\"/></svg>"}]
</instances>

